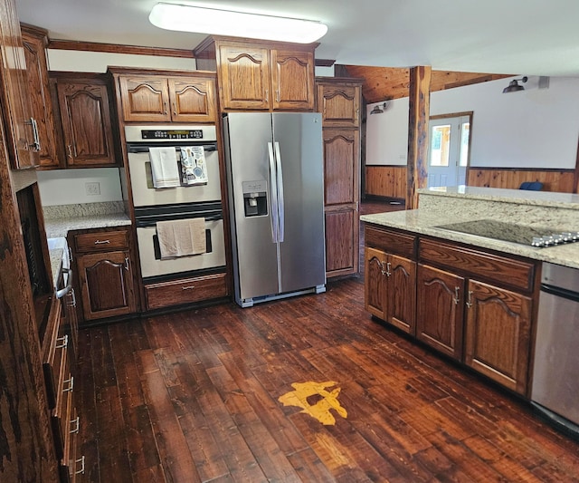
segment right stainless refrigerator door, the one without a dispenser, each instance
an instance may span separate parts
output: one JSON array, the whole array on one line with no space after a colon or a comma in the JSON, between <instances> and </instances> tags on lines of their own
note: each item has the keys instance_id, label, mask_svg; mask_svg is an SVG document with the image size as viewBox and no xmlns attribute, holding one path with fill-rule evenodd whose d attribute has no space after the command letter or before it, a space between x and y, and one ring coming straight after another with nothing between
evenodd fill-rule
<instances>
[{"instance_id":1,"label":"right stainless refrigerator door, the one without a dispenser","mask_svg":"<svg viewBox=\"0 0 579 483\"><path fill-rule=\"evenodd\" d=\"M281 292L326 284L322 122L318 113L274 113L283 179Z\"/></svg>"}]
</instances>

